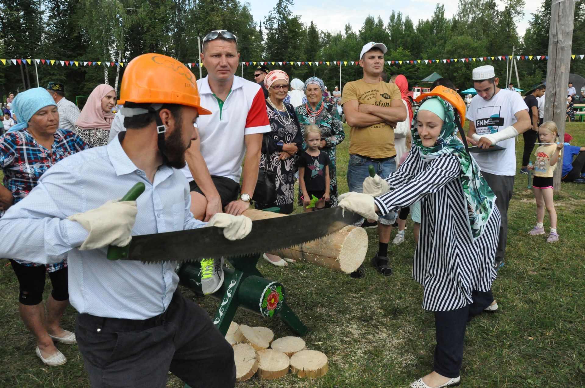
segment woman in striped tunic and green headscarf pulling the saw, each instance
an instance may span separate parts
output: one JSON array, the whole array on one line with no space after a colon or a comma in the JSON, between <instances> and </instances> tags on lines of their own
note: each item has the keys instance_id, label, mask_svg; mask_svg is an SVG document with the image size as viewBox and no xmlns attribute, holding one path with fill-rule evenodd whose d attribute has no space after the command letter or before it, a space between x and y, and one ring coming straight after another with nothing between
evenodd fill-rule
<instances>
[{"instance_id":1,"label":"woman in striped tunic and green headscarf pulling the saw","mask_svg":"<svg viewBox=\"0 0 585 388\"><path fill-rule=\"evenodd\" d=\"M469 320L495 311L491 283L500 230L495 196L463 143L457 138L456 112L464 120L463 100L437 86L412 120L412 148L386 180L364 181L364 194L346 193L339 206L368 219L421 201L421 235L412 276L424 287L422 308L435 313L433 372L412 388L458 385L463 338Z\"/></svg>"}]
</instances>

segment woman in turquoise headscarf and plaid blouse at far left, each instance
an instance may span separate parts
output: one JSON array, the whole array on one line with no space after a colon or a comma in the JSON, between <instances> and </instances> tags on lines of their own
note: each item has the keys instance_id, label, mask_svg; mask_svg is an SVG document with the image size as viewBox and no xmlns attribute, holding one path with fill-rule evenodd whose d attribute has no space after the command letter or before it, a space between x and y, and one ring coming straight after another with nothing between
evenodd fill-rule
<instances>
[{"instance_id":1,"label":"woman in turquoise headscarf and plaid blouse at far left","mask_svg":"<svg viewBox=\"0 0 585 388\"><path fill-rule=\"evenodd\" d=\"M12 105L20 123L0 138L0 167L4 171L4 186L0 185L0 217L35 188L47 169L87 147L77 134L57 128L59 112L46 89L33 88L18 93ZM65 363L65 356L54 342L75 342L75 334L60 326L61 315L69 304L67 261L47 265L13 259L10 262L20 285L20 316L35 335L36 355L46 365ZM43 305L45 272L49 272L53 286L47 297L46 313Z\"/></svg>"}]
</instances>

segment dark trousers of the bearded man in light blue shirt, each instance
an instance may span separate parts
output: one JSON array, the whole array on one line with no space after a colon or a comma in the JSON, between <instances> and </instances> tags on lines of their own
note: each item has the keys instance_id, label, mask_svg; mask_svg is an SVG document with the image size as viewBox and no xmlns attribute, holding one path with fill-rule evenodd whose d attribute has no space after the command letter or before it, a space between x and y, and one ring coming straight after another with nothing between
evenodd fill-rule
<instances>
[{"instance_id":1,"label":"dark trousers of the bearded man in light blue shirt","mask_svg":"<svg viewBox=\"0 0 585 388\"><path fill-rule=\"evenodd\" d=\"M78 314L75 336L92 388L164 388L169 371L194 388L236 384L232 347L178 290L147 320Z\"/></svg>"}]
</instances>

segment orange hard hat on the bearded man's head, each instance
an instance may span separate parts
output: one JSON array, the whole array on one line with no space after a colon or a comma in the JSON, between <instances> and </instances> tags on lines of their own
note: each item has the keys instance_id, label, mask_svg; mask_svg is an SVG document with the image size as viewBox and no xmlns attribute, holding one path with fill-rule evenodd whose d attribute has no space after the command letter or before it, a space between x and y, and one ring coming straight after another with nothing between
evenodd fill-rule
<instances>
[{"instance_id":1,"label":"orange hard hat on the bearded man's head","mask_svg":"<svg viewBox=\"0 0 585 388\"><path fill-rule=\"evenodd\" d=\"M195 75L175 58L142 54L126 66L118 103L170 103L197 108L199 115L211 115L201 107Z\"/></svg>"}]
</instances>

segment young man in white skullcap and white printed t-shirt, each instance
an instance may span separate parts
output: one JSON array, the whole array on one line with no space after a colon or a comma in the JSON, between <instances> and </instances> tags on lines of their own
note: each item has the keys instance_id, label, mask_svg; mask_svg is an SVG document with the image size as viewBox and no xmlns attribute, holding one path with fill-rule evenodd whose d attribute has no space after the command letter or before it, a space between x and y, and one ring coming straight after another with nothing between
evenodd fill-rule
<instances>
[{"instance_id":1,"label":"young man in white skullcap and white printed t-shirt","mask_svg":"<svg viewBox=\"0 0 585 388\"><path fill-rule=\"evenodd\" d=\"M532 127L528 108L517 92L498 88L494 67L480 66L473 69L473 87L477 95L467 110L468 136L477 141L480 148L496 144L504 150L474 154L481 174L496 195L495 205L500 210L502 223L500 239L495 251L494 266L503 265L508 238L508 204L514 192L516 174L515 137Z\"/></svg>"}]
</instances>

